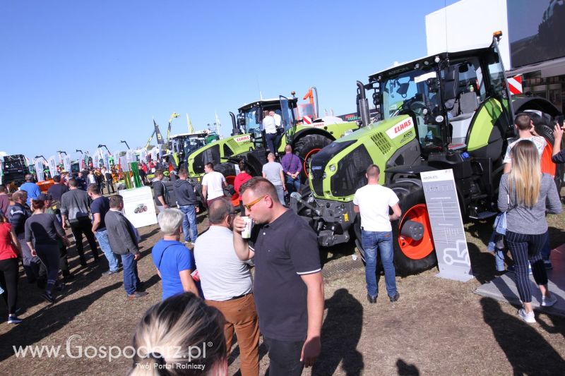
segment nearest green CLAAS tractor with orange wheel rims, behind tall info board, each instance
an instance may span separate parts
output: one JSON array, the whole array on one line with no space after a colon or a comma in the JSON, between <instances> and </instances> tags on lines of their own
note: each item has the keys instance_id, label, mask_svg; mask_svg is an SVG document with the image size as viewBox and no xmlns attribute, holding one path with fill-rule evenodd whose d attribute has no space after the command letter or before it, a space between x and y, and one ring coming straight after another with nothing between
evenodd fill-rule
<instances>
[{"instance_id":1,"label":"nearest green CLAAS tractor with orange wheel rims, behind tall info board","mask_svg":"<svg viewBox=\"0 0 565 376\"><path fill-rule=\"evenodd\" d=\"M502 161L508 139L516 135L513 114L521 111L531 111L537 133L547 138L542 169L561 186L563 171L551 162L549 127L559 111L545 99L511 99L497 37L489 47L428 56L375 73L367 85L357 82L364 126L315 154L311 193L291 198L292 209L307 219L320 245L355 237L364 255L352 200L357 188L367 184L367 166L376 164L380 183L395 191L403 213L392 223L398 274L433 267L436 255L420 172L453 169L463 218L494 216ZM372 90L371 112L366 90Z\"/></svg>"}]
</instances>

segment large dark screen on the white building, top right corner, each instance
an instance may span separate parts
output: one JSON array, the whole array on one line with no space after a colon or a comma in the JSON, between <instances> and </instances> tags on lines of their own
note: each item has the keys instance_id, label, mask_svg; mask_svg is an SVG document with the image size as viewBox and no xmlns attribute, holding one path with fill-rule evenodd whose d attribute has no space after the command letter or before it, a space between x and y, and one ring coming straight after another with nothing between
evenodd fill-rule
<instances>
[{"instance_id":1,"label":"large dark screen on the white building, top right corner","mask_svg":"<svg viewBox=\"0 0 565 376\"><path fill-rule=\"evenodd\" d=\"M565 0L507 0L513 68L565 56Z\"/></svg>"}]
</instances>

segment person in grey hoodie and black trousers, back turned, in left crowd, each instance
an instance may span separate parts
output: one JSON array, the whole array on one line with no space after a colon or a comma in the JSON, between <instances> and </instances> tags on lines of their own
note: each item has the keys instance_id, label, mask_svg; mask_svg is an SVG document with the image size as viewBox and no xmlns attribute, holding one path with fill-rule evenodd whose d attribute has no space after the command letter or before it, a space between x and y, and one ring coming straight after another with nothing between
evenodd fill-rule
<instances>
[{"instance_id":1,"label":"person in grey hoodie and black trousers, back turned, in left crowd","mask_svg":"<svg viewBox=\"0 0 565 376\"><path fill-rule=\"evenodd\" d=\"M93 253L95 262L99 260L98 247L92 230L93 223L90 222L90 217L88 217L90 207L88 200L90 200L88 193L78 189L78 181L76 181L76 179L69 180L69 192L61 196L61 222L63 222L63 228L67 229L66 220L69 220L71 231L73 231L75 238L76 251L83 267L86 266L83 250L83 234L86 236L88 244L90 244L90 250Z\"/></svg>"}]
</instances>

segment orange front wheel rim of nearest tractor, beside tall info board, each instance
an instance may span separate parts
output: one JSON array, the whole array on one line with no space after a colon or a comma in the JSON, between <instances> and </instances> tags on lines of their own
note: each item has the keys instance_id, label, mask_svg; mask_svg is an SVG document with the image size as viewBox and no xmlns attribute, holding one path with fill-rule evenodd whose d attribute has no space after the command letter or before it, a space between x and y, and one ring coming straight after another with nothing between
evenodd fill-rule
<instances>
[{"instance_id":1,"label":"orange front wheel rim of nearest tractor, beside tall info board","mask_svg":"<svg viewBox=\"0 0 565 376\"><path fill-rule=\"evenodd\" d=\"M427 206L425 204L418 204L410 207L405 212L400 224L398 226L398 233L402 229L406 221L420 222L424 226L424 236L419 241L408 238L402 235L398 236L398 245L402 253L412 259L421 260L434 250L434 241L432 240L432 227L429 224L429 217L427 213Z\"/></svg>"}]
</instances>

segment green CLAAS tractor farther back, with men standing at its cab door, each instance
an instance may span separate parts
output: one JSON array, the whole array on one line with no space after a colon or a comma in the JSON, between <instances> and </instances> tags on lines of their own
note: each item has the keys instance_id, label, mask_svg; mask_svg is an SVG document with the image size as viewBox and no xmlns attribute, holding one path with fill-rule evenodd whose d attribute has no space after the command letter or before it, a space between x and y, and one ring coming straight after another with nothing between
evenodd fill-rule
<instances>
[{"instance_id":1,"label":"green CLAAS tractor farther back, with men standing at its cab door","mask_svg":"<svg viewBox=\"0 0 565 376\"><path fill-rule=\"evenodd\" d=\"M212 142L193 152L188 157L189 176L194 183L201 181L204 175L204 165L211 162L216 171L228 178L237 174L236 166L240 159L245 159L254 176L261 175L263 164L267 162L267 149L261 123L263 111L273 110L281 116L280 137L275 142L276 150L284 154L285 145L290 143L293 151L302 161L308 161L312 155L319 152L343 135L354 131L359 126L355 121L343 122L333 118L331 121L314 121L309 125L298 125L297 98L280 96L275 99L261 99L245 104L238 110L237 116L230 112L232 118L232 134ZM337 120L336 120L337 119ZM308 164L304 164L304 167ZM307 173L304 173L304 181Z\"/></svg>"}]
</instances>

